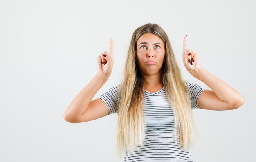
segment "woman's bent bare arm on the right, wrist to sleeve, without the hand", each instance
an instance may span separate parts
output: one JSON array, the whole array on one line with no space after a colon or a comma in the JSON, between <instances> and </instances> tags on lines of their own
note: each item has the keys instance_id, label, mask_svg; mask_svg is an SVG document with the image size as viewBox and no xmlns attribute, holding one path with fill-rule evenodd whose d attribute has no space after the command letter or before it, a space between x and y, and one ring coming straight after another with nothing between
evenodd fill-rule
<instances>
[{"instance_id":1,"label":"woman's bent bare arm on the right, wrist to sleeve, without the hand","mask_svg":"<svg viewBox=\"0 0 256 162\"><path fill-rule=\"evenodd\" d=\"M245 99L238 91L216 78L202 66L197 71L191 72L191 75L212 89L212 91L204 90L200 94L198 105L201 109L231 110L243 105Z\"/></svg>"}]
</instances>

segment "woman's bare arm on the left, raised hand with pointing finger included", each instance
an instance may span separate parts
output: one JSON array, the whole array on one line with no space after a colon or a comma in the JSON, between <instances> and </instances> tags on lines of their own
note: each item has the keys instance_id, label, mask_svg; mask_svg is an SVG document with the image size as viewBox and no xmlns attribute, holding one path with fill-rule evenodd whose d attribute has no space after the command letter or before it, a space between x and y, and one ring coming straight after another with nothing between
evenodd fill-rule
<instances>
[{"instance_id":1,"label":"woman's bare arm on the left, raised hand with pointing finger included","mask_svg":"<svg viewBox=\"0 0 256 162\"><path fill-rule=\"evenodd\" d=\"M98 73L87 84L71 102L63 114L63 118L72 123L94 120L108 115L109 111L106 104L101 99L92 98L105 84L110 77L114 64L114 45L110 40L109 52L104 51L97 58ZM85 113L86 111L86 113Z\"/></svg>"}]
</instances>

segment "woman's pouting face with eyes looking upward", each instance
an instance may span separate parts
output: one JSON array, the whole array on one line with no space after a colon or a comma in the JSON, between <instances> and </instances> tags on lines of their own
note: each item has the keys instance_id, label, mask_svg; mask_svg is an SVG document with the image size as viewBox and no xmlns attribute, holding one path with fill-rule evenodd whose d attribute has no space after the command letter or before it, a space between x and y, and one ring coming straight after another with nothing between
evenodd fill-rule
<instances>
[{"instance_id":1,"label":"woman's pouting face with eyes looking upward","mask_svg":"<svg viewBox=\"0 0 256 162\"><path fill-rule=\"evenodd\" d=\"M164 42L155 34L144 33L137 40L136 55L139 68L144 75L155 75L164 62Z\"/></svg>"}]
</instances>

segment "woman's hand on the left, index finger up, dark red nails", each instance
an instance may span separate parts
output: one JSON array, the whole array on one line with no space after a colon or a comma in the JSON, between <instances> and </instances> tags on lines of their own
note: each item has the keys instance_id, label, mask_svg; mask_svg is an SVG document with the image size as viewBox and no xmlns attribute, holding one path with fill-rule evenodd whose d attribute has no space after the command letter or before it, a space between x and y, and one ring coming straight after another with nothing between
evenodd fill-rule
<instances>
[{"instance_id":1,"label":"woman's hand on the left, index finger up, dark red nails","mask_svg":"<svg viewBox=\"0 0 256 162\"><path fill-rule=\"evenodd\" d=\"M98 74L106 75L108 78L112 72L112 67L114 64L113 57L113 40L110 40L109 52L104 51L101 55L98 55L97 64L98 64Z\"/></svg>"}]
</instances>

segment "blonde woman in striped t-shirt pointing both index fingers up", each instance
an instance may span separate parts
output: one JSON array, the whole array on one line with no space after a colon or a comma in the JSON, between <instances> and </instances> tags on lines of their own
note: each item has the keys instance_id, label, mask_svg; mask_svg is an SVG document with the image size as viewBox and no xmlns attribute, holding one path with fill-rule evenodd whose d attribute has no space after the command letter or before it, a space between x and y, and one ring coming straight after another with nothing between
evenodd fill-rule
<instances>
[{"instance_id":1,"label":"blonde woman in striped t-shirt pointing both index fingers up","mask_svg":"<svg viewBox=\"0 0 256 162\"><path fill-rule=\"evenodd\" d=\"M186 49L186 40L187 36L184 66L212 90L184 81L165 31L157 24L145 24L132 35L122 82L92 100L112 72L110 40L109 52L97 58L98 73L74 98L64 119L79 123L117 113L117 153L124 153L124 161L193 161L189 153L195 131L192 109L236 109L244 98L206 71L198 53Z\"/></svg>"}]
</instances>

